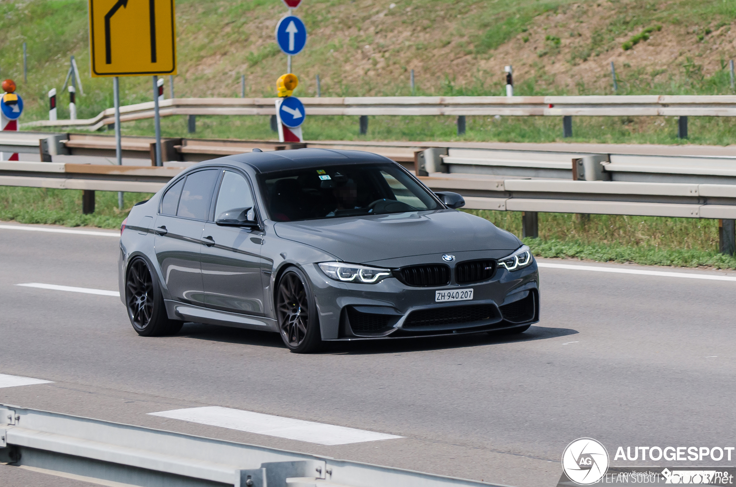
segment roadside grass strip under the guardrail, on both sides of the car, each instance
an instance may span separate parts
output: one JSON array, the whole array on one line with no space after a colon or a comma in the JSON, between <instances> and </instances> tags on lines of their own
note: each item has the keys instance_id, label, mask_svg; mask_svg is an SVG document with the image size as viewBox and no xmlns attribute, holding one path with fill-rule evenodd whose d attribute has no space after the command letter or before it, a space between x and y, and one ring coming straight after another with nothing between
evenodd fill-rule
<instances>
[{"instance_id":1,"label":"roadside grass strip under the guardrail, on both sides of the car","mask_svg":"<svg viewBox=\"0 0 736 487\"><path fill-rule=\"evenodd\" d=\"M150 196L125 193L124 209L118 210L116 193L97 191L95 213L82 215L82 191L0 187L0 221L119 228L132 205ZM521 234L518 212L466 211ZM736 269L736 257L718 253L715 220L539 213L539 237L524 241L541 257Z\"/></svg>"}]
</instances>

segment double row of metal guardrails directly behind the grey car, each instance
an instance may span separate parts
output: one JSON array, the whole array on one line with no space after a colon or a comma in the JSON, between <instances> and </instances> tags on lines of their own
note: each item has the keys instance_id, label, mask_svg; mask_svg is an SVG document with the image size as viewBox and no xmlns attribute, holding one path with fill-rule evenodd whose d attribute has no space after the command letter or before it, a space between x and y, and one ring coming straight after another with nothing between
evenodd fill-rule
<instances>
[{"instance_id":1,"label":"double row of metal guardrails directly behind the grey car","mask_svg":"<svg viewBox=\"0 0 736 487\"><path fill-rule=\"evenodd\" d=\"M487 143L283 144L170 139L163 144L163 153L167 154L164 167L157 168L113 166L105 157L112 158L114 138L105 135L25 133L24 138L16 140L16 146L12 139L0 138L0 147L29 148L32 138L38 144L41 160L74 163L0 163L0 185L148 193L158 191L185 166L250 152L254 147L358 149L402 163L434 191L460 193L465 197L466 208L525 212L524 236L538 235L538 212L718 218L723 220L724 252L732 253L730 249L736 247L736 237L732 236L736 219L736 156L730 154L682 155L666 146L648 146L647 154L635 154L631 146L623 153L582 152L588 148L582 144L573 145L581 151L576 152L561 150L559 146L554 150L489 148L492 144ZM124 138L124 154L141 162L152 160L151 143L148 138ZM657 154L657 150L670 154ZM102 157L102 161L94 157ZM79 164L92 160L96 163ZM88 193L83 201L88 204L83 205L82 211L93 212L93 194Z\"/></svg>"}]
</instances>

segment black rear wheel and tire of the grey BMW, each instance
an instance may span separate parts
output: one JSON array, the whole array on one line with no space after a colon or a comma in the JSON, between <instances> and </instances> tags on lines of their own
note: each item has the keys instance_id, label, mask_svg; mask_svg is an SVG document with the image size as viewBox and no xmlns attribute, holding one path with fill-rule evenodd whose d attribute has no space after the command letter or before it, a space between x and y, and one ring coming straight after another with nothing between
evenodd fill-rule
<instances>
[{"instance_id":1,"label":"black rear wheel and tire of the grey BMW","mask_svg":"<svg viewBox=\"0 0 736 487\"><path fill-rule=\"evenodd\" d=\"M142 257L135 257L125 273L125 303L130 324L138 335L175 335L184 324L169 319L158 280Z\"/></svg>"}]
</instances>

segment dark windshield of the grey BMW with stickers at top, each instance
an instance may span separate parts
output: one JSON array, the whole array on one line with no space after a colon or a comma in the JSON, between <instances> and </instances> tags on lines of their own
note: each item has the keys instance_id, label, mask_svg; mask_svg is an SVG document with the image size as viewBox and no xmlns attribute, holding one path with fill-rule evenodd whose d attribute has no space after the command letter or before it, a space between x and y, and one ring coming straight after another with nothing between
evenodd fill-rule
<instances>
[{"instance_id":1,"label":"dark windshield of the grey BMW with stickers at top","mask_svg":"<svg viewBox=\"0 0 736 487\"><path fill-rule=\"evenodd\" d=\"M315 166L261 175L271 218L377 215L436 210L439 204L394 165Z\"/></svg>"}]
</instances>

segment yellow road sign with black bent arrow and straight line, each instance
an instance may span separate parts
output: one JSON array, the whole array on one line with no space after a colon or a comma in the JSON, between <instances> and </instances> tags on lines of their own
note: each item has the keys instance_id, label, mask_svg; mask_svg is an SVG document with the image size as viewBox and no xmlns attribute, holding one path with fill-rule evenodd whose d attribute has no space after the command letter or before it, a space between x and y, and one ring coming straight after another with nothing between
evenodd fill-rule
<instances>
[{"instance_id":1,"label":"yellow road sign with black bent arrow and straight line","mask_svg":"<svg viewBox=\"0 0 736 487\"><path fill-rule=\"evenodd\" d=\"M89 0L92 77L177 74L174 0Z\"/></svg>"}]
</instances>

